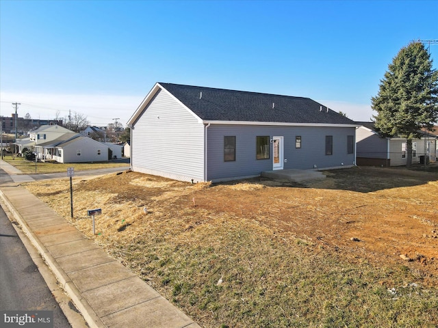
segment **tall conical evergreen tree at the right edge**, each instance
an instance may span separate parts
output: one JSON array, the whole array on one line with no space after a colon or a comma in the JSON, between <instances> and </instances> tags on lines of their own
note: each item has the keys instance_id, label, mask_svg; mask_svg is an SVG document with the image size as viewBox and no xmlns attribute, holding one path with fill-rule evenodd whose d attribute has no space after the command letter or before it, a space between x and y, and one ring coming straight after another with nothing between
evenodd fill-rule
<instances>
[{"instance_id":1,"label":"tall conical evergreen tree at the right edge","mask_svg":"<svg viewBox=\"0 0 438 328\"><path fill-rule=\"evenodd\" d=\"M376 129L386 137L407 139L407 166L412 162L412 139L421 128L432 131L438 121L438 72L420 42L402 48L385 72L372 97Z\"/></svg>"}]
</instances>

